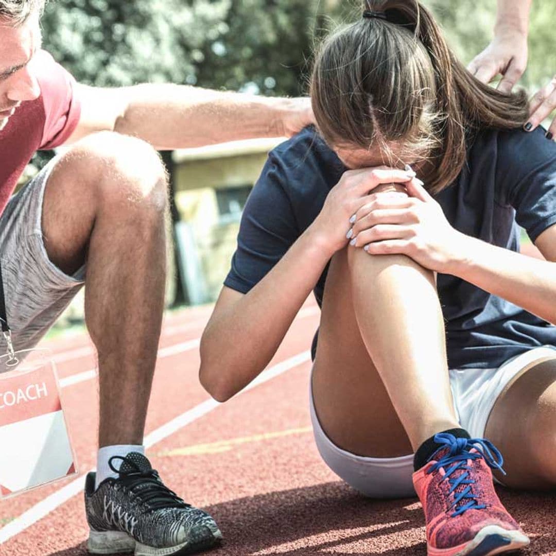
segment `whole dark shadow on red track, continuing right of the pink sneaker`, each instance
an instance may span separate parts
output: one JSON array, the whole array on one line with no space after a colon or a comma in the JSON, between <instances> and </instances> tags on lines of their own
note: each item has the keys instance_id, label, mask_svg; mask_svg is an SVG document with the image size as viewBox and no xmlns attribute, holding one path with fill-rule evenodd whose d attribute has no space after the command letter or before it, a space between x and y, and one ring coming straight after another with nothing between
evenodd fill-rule
<instances>
[{"instance_id":1,"label":"whole dark shadow on red track, continuing right of the pink sneaker","mask_svg":"<svg viewBox=\"0 0 556 556\"><path fill-rule=\"evenodd\" d=\"M554 494L499 489L532 538L523 554L556 554ZM224 533L214 556L425 556L423 515L416 499L370 500L340 481L240 498L205 508ZM85 543L50 556L84 556Z\"/></svg>"}]
</instances>

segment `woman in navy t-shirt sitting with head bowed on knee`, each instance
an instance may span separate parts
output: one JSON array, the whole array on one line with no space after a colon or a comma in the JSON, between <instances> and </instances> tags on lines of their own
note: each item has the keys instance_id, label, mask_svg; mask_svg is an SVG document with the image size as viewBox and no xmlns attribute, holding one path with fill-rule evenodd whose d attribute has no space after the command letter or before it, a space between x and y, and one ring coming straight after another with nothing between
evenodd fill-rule
<instances>
[{"instance_id":1,"label":"woman in navy t-shirt sitting with head bowed on knee","mask_svg":"<svg viewBox=\"0 0 556 556\"><path fill-rule=\"evenodd\" d=\"M415 0L365 2L311 97L318 130L270 153L245 207L202 384L221 401L249 384L314 290L326 464L370 497L416 492L429 554L522 547L491 469L556 486L556 145ZM547 260L519 253L516 221Z\"/></svg>"}]
</instances>

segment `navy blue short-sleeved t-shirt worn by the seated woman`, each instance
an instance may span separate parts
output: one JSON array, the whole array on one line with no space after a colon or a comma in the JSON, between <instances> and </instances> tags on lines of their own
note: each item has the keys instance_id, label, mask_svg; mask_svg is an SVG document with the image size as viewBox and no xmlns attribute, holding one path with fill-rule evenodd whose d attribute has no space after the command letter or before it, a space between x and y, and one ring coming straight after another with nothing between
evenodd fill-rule
<instances>
[{"instance_id":1,"label":"navy blue short-sleeved t-shirt worn by the seated woman","mask_svg":"<svg viewBox=\"0 0 556 556\"><path fill-rule=\"evenodd\" d=\"M243 294L254 287L315 220L346 169L311 127L271 151L224 284ZM556 143L540 128L480 132L458 178L434 198L456 230L519 251L517 224L532 241L556 224ZM327 270L314 288L319 306ZM497 368L531 347L556 346L556 326L502 297L448 274L438 274L437 287L450 369Z\"/></svg>"}]
</instances>

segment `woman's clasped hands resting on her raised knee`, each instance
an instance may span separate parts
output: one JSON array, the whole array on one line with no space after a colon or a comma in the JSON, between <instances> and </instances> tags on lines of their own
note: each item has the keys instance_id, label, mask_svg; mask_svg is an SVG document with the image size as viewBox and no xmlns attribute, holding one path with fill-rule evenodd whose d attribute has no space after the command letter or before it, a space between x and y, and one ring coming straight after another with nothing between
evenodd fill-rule
<instances>
[{"instance_id":1,"label":"woman's clasped hands resting on her raised knee","mask_svg":"<svg viewBox=\"0 0 556 556\"><path fill-rule=\"evenodd\" d=\"M466 236L449 224L413 171L381 166L345 172L319 221L326 222L334 251L349 242L369 255L402 254L443 273L465 257Z\"/></svg>"}]
</instances>

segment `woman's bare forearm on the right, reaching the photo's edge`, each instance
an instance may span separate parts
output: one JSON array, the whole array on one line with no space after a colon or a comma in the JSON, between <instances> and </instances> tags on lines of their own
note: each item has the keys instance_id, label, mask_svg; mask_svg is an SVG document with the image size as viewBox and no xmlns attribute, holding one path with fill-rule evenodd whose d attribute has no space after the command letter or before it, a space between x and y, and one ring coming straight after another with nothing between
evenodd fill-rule
<instances>
[{"instance_id":1,"label":"woman's bare forearm on the right, reaching the photo's edge","mask_svg":"<svg viewBox=\"0 0 556 556\"><path fill-rule=\"evenodd\" d=\"M463 236L463 234L462 234ZM534 259L474 237L448 272L556 324L556 262Z\"/></svg>"}]
</instances>

